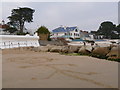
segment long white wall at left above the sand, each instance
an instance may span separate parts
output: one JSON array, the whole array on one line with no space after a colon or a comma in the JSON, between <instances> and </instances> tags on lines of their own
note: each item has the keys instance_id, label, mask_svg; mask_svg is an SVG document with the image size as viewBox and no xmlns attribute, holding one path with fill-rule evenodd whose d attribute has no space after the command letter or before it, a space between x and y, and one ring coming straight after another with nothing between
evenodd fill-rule
<instances>
[{"instance_id":1,"label":"long white wall at left above the sand","mask_svg":"<svg viewBox=\"0 0 120 90\"><path fill-rule=\"evenodd\" d=\"M0 35L0 48L39 46L38 36Z\"/></svg>"}]
</instances>

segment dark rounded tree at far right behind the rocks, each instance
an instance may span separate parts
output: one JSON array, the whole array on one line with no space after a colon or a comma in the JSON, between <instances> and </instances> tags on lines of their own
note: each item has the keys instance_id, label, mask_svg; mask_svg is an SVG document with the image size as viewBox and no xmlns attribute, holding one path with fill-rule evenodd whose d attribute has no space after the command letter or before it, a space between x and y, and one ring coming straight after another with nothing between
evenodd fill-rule
<instances>
[{"instance_id":1,"label":"dark rounded tree at far right behind the rocks","mask_svg":"<svg viewBox=\"0 0 120 90\"><path fill-rule=\"evenodd\" d=\"M115 28L116 25L114 25L112 22L106 21L101 23L97 34L99 35L104 35L104 38L109 39L109 38L115 38Z\"/></svg>"}]
</instances>

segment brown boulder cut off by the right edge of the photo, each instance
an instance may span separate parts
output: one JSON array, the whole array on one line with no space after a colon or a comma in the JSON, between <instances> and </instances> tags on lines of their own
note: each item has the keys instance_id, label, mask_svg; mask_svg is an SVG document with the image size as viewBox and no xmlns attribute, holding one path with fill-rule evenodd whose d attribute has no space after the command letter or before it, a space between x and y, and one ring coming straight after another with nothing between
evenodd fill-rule
<instances>
[{"instance_id":1,"label":"brown boulder cut off by the right edge of the photo","mask_svg":"<svg viewBox=\"0 0 120 90\"><path fill-rule=\"evenodd\" d=\"M108 59L120 59L120 45L112 47L107 56Z\"/></svg>"}]
</instances>

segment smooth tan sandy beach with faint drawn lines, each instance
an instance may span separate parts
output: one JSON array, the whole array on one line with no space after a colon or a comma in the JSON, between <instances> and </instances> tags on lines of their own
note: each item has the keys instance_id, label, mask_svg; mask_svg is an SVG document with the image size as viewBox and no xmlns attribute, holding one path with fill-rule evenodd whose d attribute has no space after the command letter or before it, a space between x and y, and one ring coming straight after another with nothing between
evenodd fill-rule
<instances>
[{"instance_id":1,"label":"smooth tan sandy beach with faint drawn lines","mask_svg":"<svg viewBox=\"0 0 120 90\"><path fill-rule=\"evenodd\" d=\"M3 88L118 88L118 62L89 56L2 50Z\"/></svg>"}]
</instances>

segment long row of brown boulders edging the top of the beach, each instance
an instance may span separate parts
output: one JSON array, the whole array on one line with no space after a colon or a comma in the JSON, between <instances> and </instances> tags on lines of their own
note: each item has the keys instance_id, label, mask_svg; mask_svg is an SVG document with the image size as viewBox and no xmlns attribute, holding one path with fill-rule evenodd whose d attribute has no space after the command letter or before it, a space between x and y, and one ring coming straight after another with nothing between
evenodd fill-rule
<instances>
[{"instance_id":1,"label":"long row of brown boulders edging the top of the beach","mask_svg":"<svg viewBox=\"0 0 120 90\"><path fill-rule=\"evenodd\" d=\"M93 57L104 58L104 59L117 59L120 61L120 45L100 47L100 46L56 46L46 45L39 47L27 47L26 50L35 52L58 52L58 53L78 53L82 55L90 55Z\"/></svg>"}]
</instances>

